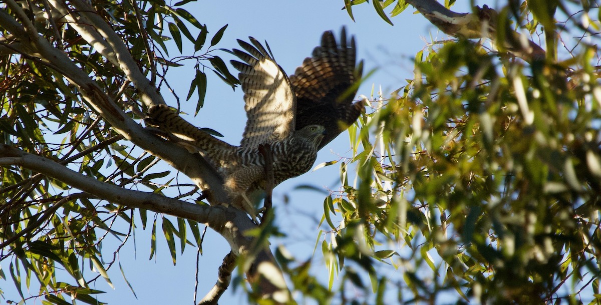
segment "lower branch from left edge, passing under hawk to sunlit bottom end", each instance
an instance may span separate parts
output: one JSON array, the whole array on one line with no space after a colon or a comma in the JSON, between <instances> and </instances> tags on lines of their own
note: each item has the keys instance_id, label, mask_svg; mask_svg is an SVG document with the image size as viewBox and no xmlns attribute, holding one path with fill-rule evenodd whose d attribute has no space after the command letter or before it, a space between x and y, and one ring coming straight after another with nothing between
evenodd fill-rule
<instances>
[{"instance_id":1,"label":"lower branch from left edge, passing under hawk to sunlit bottom end","mask_svg":"<svg viewBox=\"0 0 601 305\"><path fill-rule=\"evenodd\" d=\"M262 297L276 301L275 304L285 304L291 300L284 276L275 263L269 247L262 246L256 249L254 238L245 236L244 232L254 229L256 226L248 215L241 210L223 206L209 207L189 204L154 193L123 189L114 184L103 183L87 177L52 160L25 153L6 144L0 144L0 166L28 168L47 177L63 181L63 183L96 198L124 207L144 208L205 223L228 241L234 255L245 256L253 262L246 272L249 281L254 283Z\"/></svg>"}]
</instances>

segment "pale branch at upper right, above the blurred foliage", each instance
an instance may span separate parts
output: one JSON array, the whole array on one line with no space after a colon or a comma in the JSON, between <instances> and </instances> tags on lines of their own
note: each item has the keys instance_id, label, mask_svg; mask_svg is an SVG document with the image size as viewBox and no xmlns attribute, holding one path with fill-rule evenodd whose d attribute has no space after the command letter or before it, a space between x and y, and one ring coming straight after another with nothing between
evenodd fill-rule
<instances>
[{"instance_id":1,"label":"pale branch at upper right, above the blurred foliage","mask_svg":"<svg viewBox=\"0 0 601 305\"><path fill-rule=\"evenodd\" d=\"M545 50L528 38L523 38L518 32L504 29L509 35L504 35L503 41L498 41L496 32L498 14L492 8L476 7L474 13L455 13L448 10L436 0L407 0L445 34L461 38L489 38L498 47L506 49L514 56L526 61L545 59Z\"/></svg>"}]
</instances>

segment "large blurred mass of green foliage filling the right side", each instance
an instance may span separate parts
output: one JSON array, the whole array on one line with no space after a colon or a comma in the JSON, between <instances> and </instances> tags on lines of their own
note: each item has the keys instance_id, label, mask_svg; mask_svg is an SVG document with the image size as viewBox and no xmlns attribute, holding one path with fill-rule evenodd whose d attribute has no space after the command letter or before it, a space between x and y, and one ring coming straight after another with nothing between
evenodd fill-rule
<instances>
[{"instance_id":1,"label":"large blurred mass of green foliage filling the right side","mask_svg":"<svg viewBox=\"0 0 601 305\"><path fill-rule=\"evenodd\" d=\"M373 262L388 261L404 281L385 290L406 303L453 291L457 303L599 301L599 8L542 2L502 7L496 31L528 31L546 59L443 41L416 55L415 79L391 98L379 92L377 111L351 131L341 192L324 205L331 273L368 296L349 261L373 292L387 279Z\"/></svg>"}]
</instances>

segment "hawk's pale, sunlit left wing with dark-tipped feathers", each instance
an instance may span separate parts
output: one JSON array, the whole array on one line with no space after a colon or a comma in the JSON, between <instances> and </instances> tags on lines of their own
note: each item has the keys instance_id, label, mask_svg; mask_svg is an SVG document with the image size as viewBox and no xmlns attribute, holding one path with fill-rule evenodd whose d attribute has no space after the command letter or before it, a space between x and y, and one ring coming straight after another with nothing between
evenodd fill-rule
<instances>
[{"instance_id":1,"label":"hawk's pale, sunlit left wing with dark-tipped feathers","mask_svg":"<svg viewBox=\"0 0 601 305\"><path fill-rule=\"evenodd\" d=\"M294 131L296 98L282 68L257 40L249 39L252 45L238 40L246 52L233 50L243 62L231 64L240 71L238 78L248 118L240 146L258 147L285 139Z\"/></svg>"}]
</instances>

